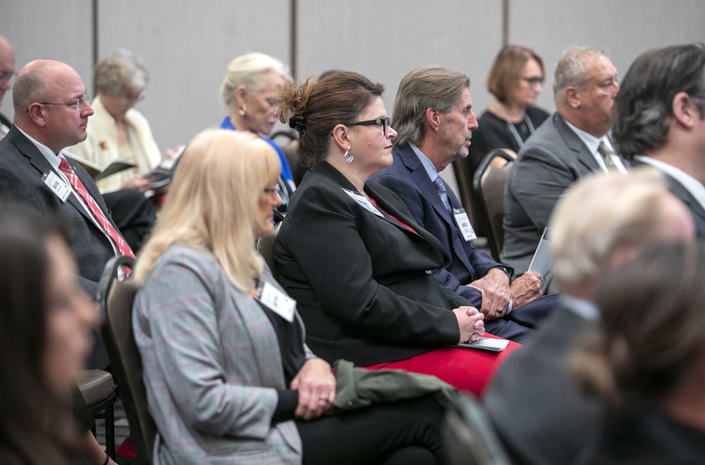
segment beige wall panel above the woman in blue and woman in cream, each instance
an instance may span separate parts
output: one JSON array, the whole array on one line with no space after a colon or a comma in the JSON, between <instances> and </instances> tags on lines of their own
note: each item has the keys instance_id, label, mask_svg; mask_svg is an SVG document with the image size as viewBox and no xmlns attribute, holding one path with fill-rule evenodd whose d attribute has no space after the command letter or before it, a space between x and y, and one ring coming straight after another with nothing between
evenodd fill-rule
<instances>
[{"instance_id":1,"label":"beige wall panel above the woman in blue and woman in cream","mask_svg":"<svg viewBox=\"0 0 705 465\"><path fill-rule=\"evenodd\" d=\"M164 151L218 126L228 63L247 52L290 62L289 0L120 0L99 4L99 58L123 47L152 73L137 104Z\"/></svg>"}]
</instances>

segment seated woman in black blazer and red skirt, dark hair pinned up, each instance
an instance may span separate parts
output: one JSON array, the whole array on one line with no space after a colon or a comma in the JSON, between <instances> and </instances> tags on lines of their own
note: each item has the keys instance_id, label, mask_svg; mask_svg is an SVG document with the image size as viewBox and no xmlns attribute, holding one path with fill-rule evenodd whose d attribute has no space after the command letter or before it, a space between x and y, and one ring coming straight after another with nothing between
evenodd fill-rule
<instances>
[{"instance_id":1,"label":"seated woman in black blazer and red skirt, dark hair pinned up","mask_svg":"<svg viewBox=\"0 0 705 465\"><path fill-rule=\"evenodd\" d=\"M383 90L341 72L281 91L280 118L300 132L312 168L278 234L280 281L298 302L307 344L327 361L436 375L480 394L511 350L445 347L484 334L483 315L431 274L449 260L441 243L368 181L392 163Z\"/></svg>"}]
</instances>

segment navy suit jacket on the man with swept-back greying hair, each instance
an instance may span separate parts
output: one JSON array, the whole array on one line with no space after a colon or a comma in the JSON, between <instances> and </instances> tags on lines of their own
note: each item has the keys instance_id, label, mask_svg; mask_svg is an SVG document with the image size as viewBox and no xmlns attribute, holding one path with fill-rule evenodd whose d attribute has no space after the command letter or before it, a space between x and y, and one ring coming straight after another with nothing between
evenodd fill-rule
<instances>
[{"instance_id":1,"label":"navy suit jacket on the man with swept-back greying hair","mask_svg":"<svg viewBox=\"0 0 705 465\"><path fill-rule=\"evenodd\" d=\"M434 271L441 286L467 298L473 306L479 308L482 295L477 289L465 284L484 277L492 267L502 264L462 238L455 219L446 211L436 186L410 145L396 147L392 156L394 162L391 167L372 176L372 181L394 191L404 201L417 223L436 236L450 254L450 265ZM446 191L450 206L453 209L461 208L460 201L447 185Z\"/></svg>"}]
</instances>

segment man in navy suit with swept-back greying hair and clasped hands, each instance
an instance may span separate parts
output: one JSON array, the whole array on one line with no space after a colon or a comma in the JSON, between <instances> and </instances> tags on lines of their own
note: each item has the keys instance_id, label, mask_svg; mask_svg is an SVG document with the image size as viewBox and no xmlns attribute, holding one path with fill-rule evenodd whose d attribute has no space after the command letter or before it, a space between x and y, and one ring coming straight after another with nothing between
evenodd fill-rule
<instances>
[{"instance_id":1,"label":"man in navy suit with swept-back greying hair and clasped hands","mask_svg":"<svg viewBox=\"0 0 705 465\"><path fill-rule=\"evenodd\" d=\"M464 226L470 221L439 176L453 160L467 157L477 128L469 87L465 74L439 66L408 73L399 85L391 121L398 132L393 164L372 179L399 195L414 219L446 248L452 261L435 271L439 283L485 314L487 332L522 342L552 307L551 299L537 300L541 275L529 272L512 282L510 267L474 248L474 236Z\"/></svg>"}]
</instances>

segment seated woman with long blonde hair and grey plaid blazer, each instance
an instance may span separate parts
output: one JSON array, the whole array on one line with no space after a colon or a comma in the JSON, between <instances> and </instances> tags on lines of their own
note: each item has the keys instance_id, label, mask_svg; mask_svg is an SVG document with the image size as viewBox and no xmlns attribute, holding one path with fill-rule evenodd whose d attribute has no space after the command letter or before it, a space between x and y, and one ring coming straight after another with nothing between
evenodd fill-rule
<instances>
[{"instance_id":1,"label":"seated woman with long blonde hair and grey plaid blazer","mask_svg":"<svg viewBox=\"0 0 705 465\"><path fill-rule=\"evenodd\" d=\"M329 416L331 366L304 343L295 301L255 250L274 229L279 173L276 152L246 132L203 131L180 159L135 267L157 461L391 464L411 449L415 463L441 463L443 412L431 399Z\"/></svg>"}]
</instances>

